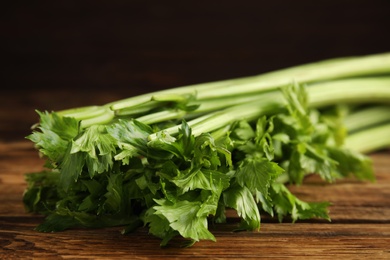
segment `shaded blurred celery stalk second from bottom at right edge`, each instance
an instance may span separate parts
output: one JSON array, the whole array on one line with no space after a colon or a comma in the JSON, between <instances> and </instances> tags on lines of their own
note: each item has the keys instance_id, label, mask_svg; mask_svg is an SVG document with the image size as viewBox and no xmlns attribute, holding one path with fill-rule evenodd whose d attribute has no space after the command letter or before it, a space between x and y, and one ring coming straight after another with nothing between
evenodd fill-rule
<instances>
[{"instance_id":1,"label":"shaded blurred celery stalk second from bottom at right edge","mask_svg":"<svg viewBox=\"0 0 390 260\"><path fill-rule=\"evenodd\" d=\"M344 120L344 126L349 134L371 126L390 123L390 103L357 109L348 114Z\"/></svg>"}]
</instances>

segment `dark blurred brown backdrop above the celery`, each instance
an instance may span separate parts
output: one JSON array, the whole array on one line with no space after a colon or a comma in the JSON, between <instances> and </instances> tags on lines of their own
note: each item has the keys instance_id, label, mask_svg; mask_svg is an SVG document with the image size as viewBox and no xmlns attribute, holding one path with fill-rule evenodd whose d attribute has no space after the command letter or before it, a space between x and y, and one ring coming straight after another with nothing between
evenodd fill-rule
<instances>
[{"instance_id":1,"label":"dark blurred brown backdrop above the celery","mask_svg":"<svg viewBox=\"0 0 390 260\"><path fill-rule=\"evenodd\" d=\"M390 51L389 0L9 1L0 12L2 139L28 133L34 109Z\"/></svg>"}]
</instances>

